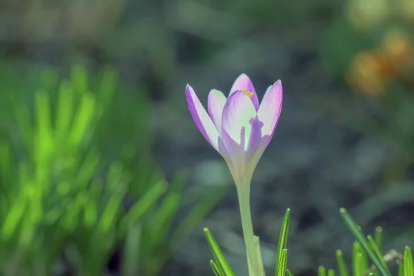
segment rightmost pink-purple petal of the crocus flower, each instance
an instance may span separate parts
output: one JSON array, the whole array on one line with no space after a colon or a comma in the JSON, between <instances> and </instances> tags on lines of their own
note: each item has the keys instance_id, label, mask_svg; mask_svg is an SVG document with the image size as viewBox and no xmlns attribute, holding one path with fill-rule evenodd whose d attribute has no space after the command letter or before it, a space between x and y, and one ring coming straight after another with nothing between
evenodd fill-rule
<instances>
[{"instance_id":1,"label":"rightmost pink-purple petal of the crocus flower","mask_svg":"<svg viewBox=\"0 0 414 276\"><path fill-rule=\"evenodd\" d=\"M280 112L282 110L283 89L282 81L276 81L270 86L263 97L257 116L263 122L262 135L268 135L268 140L273 136L277 121L279 121Z\"/></svg>"}]
</instances>

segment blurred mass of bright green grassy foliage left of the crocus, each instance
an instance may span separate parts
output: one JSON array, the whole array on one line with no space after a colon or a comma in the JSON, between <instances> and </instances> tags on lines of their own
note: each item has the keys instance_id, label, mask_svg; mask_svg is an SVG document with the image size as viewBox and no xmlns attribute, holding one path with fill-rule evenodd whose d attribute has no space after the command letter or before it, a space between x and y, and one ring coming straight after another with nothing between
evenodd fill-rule
<instances>
[{"instance_id":1,"label":"blurred mass of bright green grassy foliage left of the crocus","mask_svg":"<svg viewBox=\"0 0 414 276\"><path fill-rule=\"evenodd\" d=\"M122 275L157 275L223 190L171 231L185 178L168 184L150 156L142 89L110 67L0 70L1 274L102 275L120 246Z\"/></svg>"}]
</instances>

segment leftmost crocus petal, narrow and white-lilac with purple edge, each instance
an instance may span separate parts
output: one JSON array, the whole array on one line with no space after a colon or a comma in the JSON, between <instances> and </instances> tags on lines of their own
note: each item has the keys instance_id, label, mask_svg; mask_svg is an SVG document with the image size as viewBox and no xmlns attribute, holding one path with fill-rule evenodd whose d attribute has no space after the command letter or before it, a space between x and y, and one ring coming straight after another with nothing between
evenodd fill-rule
<instances>
[{"instance_id":1,"label":"leftmost crocus petal, narrow and white-lilac with purple edge","mask_svg":"<svg viewBox=\"0 0 414 276\"><path fill-rule=\"evenodd\" d=\"M188 110L190 110L190 114L193 117L195 125L208 143L210 143L211 146L218 151L219 132L213 124L213 121L211 121L210 116L208 116L206 110L201 105L197 95L195 95L193 88L191 88L188 84L186 87L186 98Z\"/></svg>"}]
</instances>

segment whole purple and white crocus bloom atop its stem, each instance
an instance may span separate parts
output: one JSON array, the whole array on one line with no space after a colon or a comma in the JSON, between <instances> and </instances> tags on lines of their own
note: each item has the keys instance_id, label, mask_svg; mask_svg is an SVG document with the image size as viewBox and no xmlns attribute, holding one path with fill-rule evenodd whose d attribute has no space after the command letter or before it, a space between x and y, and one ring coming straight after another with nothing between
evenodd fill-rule
<instances>
[{"instance_id":1,"label":"whole purple and white crocus bloom atop its stem","mask_svg":"<svg viewBox=\"0 0 414 276\"><path fill-rule=\"evenodd\" d=\"M279 121L282 82L270 86L259 104L252 81L242 74L228 98L219 90L210 91L208 113L189 85L186 98L197 128L224 157L237 186L248 186Z\"/></svg>"}]
</instances>

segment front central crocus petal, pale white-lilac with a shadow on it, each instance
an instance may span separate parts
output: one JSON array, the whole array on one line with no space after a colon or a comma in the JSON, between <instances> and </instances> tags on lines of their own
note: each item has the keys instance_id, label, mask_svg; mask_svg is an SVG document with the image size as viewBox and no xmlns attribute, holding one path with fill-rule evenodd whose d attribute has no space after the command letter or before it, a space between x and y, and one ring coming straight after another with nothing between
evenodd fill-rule
<instances>
[{"instance_id":1,"label":"front central crocus petal, pale white-lilac with a shadow on it","mask_svg":"<svg viewBox=\"0 0 414 276\"><path fill-rule=\"evenodd\" d=\"M244 92L238 90L230 95L224 104L221 132L225 131L237 144L248 141L251 130L249 121L254 117L256 117L256 110L252 101ZM240 136L242 128L245 129L244 137ZM226 144L225 140L224 144Z\"/></svg>"}]
</instances>

